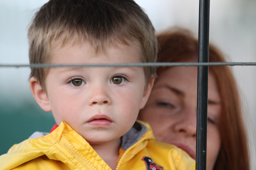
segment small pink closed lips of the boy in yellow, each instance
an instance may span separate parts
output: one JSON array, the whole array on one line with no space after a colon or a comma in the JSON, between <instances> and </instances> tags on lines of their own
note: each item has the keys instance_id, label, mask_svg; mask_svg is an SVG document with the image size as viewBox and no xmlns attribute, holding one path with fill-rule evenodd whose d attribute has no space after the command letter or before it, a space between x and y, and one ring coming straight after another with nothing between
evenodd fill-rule
<instances>
[{"instance_id":1,"label":"small pink closed lips of the boy in yellow","mask_svg":"<svg viewBox=\"0 0 256 170\"><path fill-rule=\"evenodd\" d=\"M110 126L112 122L113 121L105 114L97 114L96 116L90 118L87 124L91 126L105 127Z\"/></svg>"}]
</instances>

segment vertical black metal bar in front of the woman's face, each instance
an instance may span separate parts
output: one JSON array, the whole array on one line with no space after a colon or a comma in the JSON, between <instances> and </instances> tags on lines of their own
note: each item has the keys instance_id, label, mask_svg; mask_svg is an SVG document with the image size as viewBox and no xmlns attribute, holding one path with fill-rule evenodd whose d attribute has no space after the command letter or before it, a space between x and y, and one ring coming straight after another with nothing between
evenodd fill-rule
<instances>
[{"instance_id":1,"label":"vertical black metal bar in front of the woman's face","mask_svg":"<svg viewBox=\"0 0 256 170\"><path fill-rule=\"evenodd\" d=\"M210 1L200 0L198 62L209 62L209 11ZM207 106L208 66L199 66L197 77L196 170L205 170L207 167Z\"/></svg>"}]
</instances>

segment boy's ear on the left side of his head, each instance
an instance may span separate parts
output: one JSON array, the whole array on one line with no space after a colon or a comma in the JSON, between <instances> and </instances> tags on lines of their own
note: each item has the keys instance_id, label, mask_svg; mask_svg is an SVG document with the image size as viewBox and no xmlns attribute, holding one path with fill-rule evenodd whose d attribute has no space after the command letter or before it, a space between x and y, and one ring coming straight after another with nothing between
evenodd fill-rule
<instances>
[{"instance_id":1,"label":"boy's ear on the left side of his head","mask_svg":"<svg viewBox=\"0 0 256 170\"><path fill-rule=\"evenodd\" d=\"M51 105L49 104L47 94L35 77L30 78L30 90L36 100L36 103L38 103L44 111L51 112Z\"/></svg>"}]
</instances>

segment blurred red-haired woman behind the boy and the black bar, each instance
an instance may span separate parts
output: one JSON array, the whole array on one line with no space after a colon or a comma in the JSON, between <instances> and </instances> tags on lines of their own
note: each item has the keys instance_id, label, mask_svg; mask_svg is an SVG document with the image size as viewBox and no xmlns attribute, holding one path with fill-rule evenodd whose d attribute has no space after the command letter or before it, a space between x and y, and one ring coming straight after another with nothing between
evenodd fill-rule
<instances>
[{"instance_id":1,"label":"blurred red-haired woman behind the boy and the black bar","mask_svg":"<svg viewBox=\"0 0 256 170\"><path fill-rule=\"evenodd\" d=\"M176 31L175 31L176 30ZM178 31L179 30L179 31ZM158 62L197 62L198 41L185 29L158 35ZM225 62L213 45L209 62ZM196 158L197 67L158 67L150 99L139 113L157 140ZM207 169L249 170L240 96L228 66L209 66Z\"/></svg>"}]
</instances>

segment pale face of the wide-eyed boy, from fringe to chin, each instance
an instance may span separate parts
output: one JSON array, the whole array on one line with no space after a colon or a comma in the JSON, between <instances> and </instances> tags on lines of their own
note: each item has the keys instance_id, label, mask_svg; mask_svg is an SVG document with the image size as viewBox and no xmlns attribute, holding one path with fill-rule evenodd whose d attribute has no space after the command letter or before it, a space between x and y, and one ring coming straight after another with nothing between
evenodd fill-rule
<instances>
[{"instance_id":1,"label":"pale face of the wide-eyed boy, from fringe to chin","mask_svg":"<svg viewBox=\"0 0 256 170\"><path fill-rule=\"evenodd\" d=\"M135 44L135 45L134 45ZM118 44L95 54L89 42L53 48L51 63L141 62L138 43ZM57 67L46 78L47 100L57 124L67 122L90 144L111 142L125 134L144 107L143 67Z\"/></svg>"}]
</instances>

